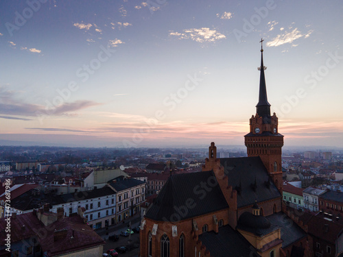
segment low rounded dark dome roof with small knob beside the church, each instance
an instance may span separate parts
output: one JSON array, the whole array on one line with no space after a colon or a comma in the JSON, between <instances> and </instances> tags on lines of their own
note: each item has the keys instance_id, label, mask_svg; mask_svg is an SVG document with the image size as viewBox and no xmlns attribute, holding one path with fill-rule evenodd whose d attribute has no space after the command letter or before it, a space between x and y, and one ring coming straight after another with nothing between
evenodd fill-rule
<instances>
[{"instance_id":1,"label":"low rounded dark dome roof with small knob beside the church","mask_svg":"<svg viewBox=\"0 0 343 257\"><path fill-rule=\"evenodd\" d=\"M264 236L278 228L271 225L270 221L263 216L252 215L251 212L244 212L238 219L237 229L251 232L257 236Z\"/></svg>"}]
</instances>

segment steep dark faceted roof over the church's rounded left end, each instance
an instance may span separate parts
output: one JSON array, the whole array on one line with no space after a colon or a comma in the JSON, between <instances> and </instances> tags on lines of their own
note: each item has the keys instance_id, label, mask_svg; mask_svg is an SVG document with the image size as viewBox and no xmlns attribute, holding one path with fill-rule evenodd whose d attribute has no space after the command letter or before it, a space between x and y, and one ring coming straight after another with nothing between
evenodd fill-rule
<instances>
[{"instance_id":1,"label":"steep dark faceted roof over the church's rounded left end","mask_svg":"<svg viewBox=\"0 0 343 257\"><path fill-rule=\"evenodd\" d=\"M201 188L202 184L211 191ZM145 217L176 222L225 208L228 204L213 171L202 171L171 175Z\"/></svg>"}]
</instances>

